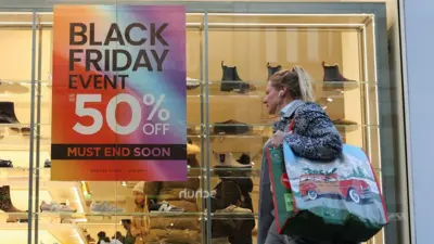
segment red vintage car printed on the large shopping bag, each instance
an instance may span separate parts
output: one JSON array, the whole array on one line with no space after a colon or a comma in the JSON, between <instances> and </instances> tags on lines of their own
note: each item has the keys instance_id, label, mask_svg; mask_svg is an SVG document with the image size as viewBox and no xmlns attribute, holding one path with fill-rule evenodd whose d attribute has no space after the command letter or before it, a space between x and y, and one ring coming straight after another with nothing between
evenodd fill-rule
<instances>
[{"instance_id":1,"label":"red vintage car printed on the large shopping bag","mask_svg":"<svg viewBox=\"0 0 434 244\"><path fill-rule=\"evenodd\" d=\"M339 180L336 174L302 175L299 193L309 200L316 200L320 195L341 195L357 204L371 198L371 190L367 182L359 179Z\"/></svg>"}]
</instances>

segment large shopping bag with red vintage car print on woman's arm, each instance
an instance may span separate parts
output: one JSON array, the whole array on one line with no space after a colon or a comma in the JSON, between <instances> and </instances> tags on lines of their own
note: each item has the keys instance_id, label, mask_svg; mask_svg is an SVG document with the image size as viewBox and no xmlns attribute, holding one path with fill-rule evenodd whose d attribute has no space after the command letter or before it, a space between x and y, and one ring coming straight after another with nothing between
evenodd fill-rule
<instances>
[{"instance_id":1,"label":"large shopping bag with red vintage car print on woman's arm","mask_svg":"<svg viewBox=\"0 0 434 244\"><path fill-rule=\"evenodd\" d=\"M311 241L366 242L387 224L387 210L368 156L344 144L341 157L315 162L290 145L268 147L280 234Z\"/></svg>"}]
</instances>

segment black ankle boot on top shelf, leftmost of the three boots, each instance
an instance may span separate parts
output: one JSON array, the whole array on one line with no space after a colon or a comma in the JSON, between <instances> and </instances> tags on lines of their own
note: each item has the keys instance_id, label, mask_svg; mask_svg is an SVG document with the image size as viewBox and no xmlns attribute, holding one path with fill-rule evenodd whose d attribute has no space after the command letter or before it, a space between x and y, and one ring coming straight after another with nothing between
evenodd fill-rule
<instances>
[{"instance_id":1,"label":"black ankle boot on top shelf, leftmost of the three boots","mask_svg":"<svg viewBox=\"0 0 434 244\"><path fill-rule=\"evenodd\" d=\"M242 82L243 80L240 78L237 72L237 66L228 67L221 61L221 86L220 91L232 91L238 90L239 93L244 93L250 89L250 85L246 82Z\"/></svg>"}]
</instances>

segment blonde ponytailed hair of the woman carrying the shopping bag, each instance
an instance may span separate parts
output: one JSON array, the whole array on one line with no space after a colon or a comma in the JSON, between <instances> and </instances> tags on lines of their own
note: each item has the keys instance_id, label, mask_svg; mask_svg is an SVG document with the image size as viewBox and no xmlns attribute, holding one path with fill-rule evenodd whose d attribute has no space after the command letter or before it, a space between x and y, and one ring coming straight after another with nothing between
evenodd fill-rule
<instances>
[{"instance_id":1,"label":"blonde ponytailed hair of the woman carrying the shopping bag","mask_svg":"<svg viewBox=\"0 0 434 244\"><path fill-rule=\"evenodd\" d=\"M315 102L310 76L301 66L294 66L291 70L277 72L269 78L269 81L278 90L286 88L288 94L293 99Z\"/></svg>"}]
</instances>

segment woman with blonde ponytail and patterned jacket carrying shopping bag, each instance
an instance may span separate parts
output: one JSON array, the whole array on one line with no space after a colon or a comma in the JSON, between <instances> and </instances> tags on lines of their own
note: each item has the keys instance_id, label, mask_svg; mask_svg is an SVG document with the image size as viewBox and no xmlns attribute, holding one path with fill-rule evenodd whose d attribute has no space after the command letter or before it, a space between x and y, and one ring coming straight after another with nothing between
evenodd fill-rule
<instances>
[{"instance_id":1,"label":"woman with blonde ponytail and patterned jacket carrying shopping bag","mask_svg":"<svg viewBox=\"0 0 434 244\"><path fill-rule=\"evenodd\" d=\"M308 74L298 66L281 70L268 79L264 104L269 114L279 115L271 139L265 147L283 141L293 152L310 159L333 159L342 152L342 139L324 111L315 103ZM290 131L290 125L293 129ZM286 236L277 232L267 162L263 160L259 189L258 244L322 244L308 236ZM336 244L323 242L324 244ZM341 244L341 243L340 243Z\"/></svg>"}]
</instances>

